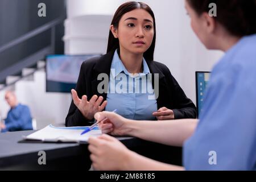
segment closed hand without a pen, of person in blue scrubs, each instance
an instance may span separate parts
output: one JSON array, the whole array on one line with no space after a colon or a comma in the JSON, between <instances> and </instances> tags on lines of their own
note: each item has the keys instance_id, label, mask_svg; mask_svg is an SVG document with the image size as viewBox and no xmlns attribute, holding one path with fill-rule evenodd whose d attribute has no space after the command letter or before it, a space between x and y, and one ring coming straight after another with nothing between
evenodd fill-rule
<instances>
[{"instance_id":1,"label":"closed hand without a pen, of person in blue scrubs","mask_svg":"<svg viewBox=\"0 0 256 182\"><path fill-rule=\"evenodd\" d=\"M88 143L94 169L107 171L125 169L131 151L118 139L103 134L100 137L90 137Z\"/></svg>"}]
</instances>

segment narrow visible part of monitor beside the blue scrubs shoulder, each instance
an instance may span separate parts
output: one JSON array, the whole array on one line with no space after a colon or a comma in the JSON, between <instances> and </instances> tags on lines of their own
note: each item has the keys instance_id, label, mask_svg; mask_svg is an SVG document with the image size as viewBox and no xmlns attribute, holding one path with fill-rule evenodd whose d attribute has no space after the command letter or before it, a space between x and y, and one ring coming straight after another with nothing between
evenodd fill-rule
<instances>
[{"instance_id":1,"label":"narrow visible part of monitor beside the blue scrubs shoulder","mask_svg":"<svg viewBox=\"0 0 256 182\"><path fill-rule=\"evenodd\" d=\"M209 78L210 78L210 72L196 72L197 117L199 117L202 110L204 94L205 94L205 90L207 89Z\"/></svg>"}]
</instances>

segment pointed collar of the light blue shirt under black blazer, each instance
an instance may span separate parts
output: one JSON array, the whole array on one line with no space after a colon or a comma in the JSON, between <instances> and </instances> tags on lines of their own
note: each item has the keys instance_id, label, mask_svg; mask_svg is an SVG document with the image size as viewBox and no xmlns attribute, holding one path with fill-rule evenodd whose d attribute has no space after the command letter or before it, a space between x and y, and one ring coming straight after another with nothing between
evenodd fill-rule
<instances>
[{"instance_id":1,"label":"pointed collar of the light blue shirt under black blazer","mask_svg":"<svg viewBox=\"0 0 256 182\"><path fill-rule=\"evenodd\" d=\"M143 65L143 74L146 75L150 73L150 69L148 68L147 62L144 59L144 57L142 59L142 65ZM123 65L116 49L113 56L112 64L111 64L110 74L112 75L113 78L115 78L121 72L124 72L126 75L130 74L125 68L125 65Z\"/></svg>"}]
</instances>

